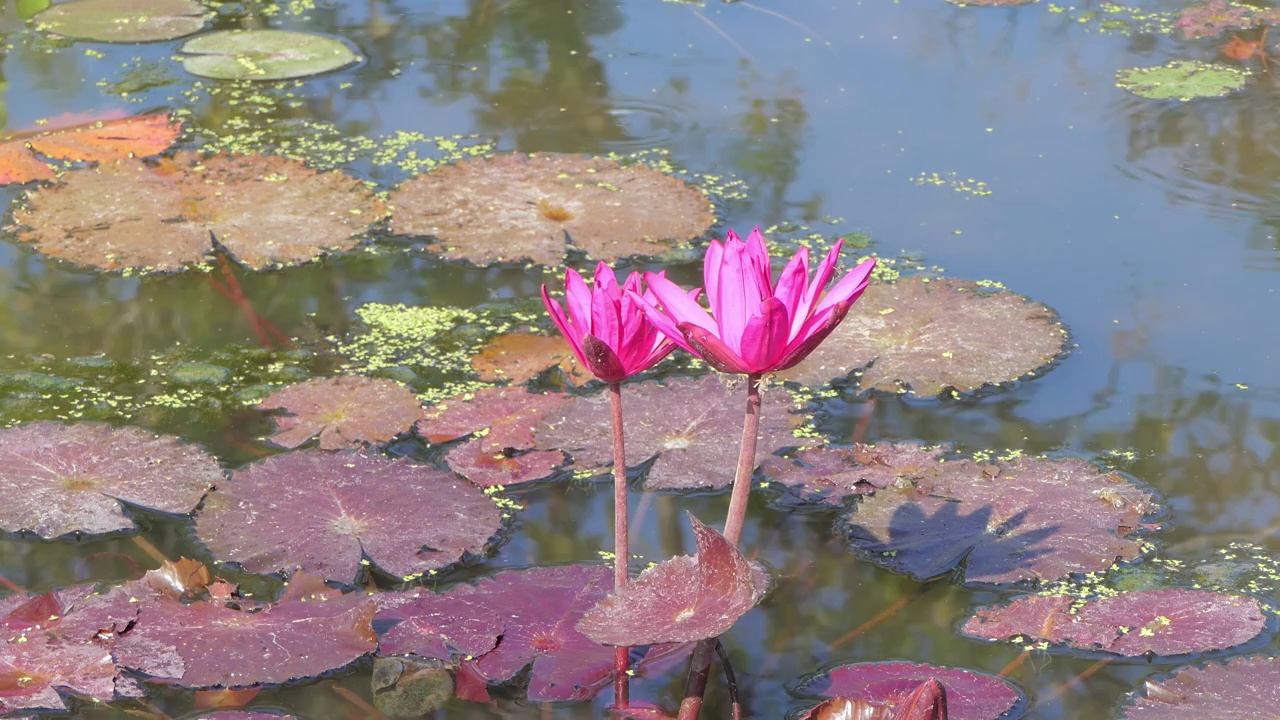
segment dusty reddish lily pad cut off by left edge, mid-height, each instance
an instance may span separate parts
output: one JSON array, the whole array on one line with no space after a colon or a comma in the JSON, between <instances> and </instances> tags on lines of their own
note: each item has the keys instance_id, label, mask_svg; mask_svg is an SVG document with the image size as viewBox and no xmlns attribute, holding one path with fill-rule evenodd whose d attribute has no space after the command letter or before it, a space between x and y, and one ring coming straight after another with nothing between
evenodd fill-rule
<instances>
[{"instance_id":1,"label":"dusty reddish lily pad cut off by left edge, mid-height","mask_svg":"<svg viewBox=\"0 0 1280 720\"><path fill-rule=\"evenodd\" d=\"M120 502L186 515L221 482L218 461L177 438L102 424L0 429L0 529L55 538L134 529Z\"/></svg>"}]
</instances>

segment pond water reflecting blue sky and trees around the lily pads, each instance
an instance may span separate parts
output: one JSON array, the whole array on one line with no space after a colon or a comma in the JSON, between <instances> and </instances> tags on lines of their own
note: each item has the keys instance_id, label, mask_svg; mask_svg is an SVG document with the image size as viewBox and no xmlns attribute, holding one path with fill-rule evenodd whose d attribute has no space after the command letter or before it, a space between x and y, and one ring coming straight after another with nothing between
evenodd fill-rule
<instances>
[{"instance_id":1,"label":"pond water reflecting blue sky and trees around the lily pads","mask_svg":"<svg viewBox=\"0 0 1280 720\"><path fill-rule=\"evenodd\" d=\"M1144 3L1135 13L1088 1L960 8L942 0L209 6L216 12L210 27L330 33L358 47L362 61L287 83L198 79L173 59L180 40L51 38L23 18L29 4L6 0L0 119L17 132L64 114L174 111L187 126L179 145L274 151L311 142L308 152L333 149L321 164L379 190L403 181L404 164L367 152L348 160L342 147L358 145L353 138L410 132L500 151L662 151L678 168L718 178L708 186L731 188L713 196L717 237L754 224L782 228L780 236L820 233L823 243L859 233L869 251L904 265L1002 283L1052 307L1070 331L1069 355L1016 384L951 400L869 401L845 388L815 413L833 442L918 439L952 443L961 454L1106 461L1164 498L1166 530L1148 538L1158 557L1194 564L1233 542L1257 544L1260 556L1280 551L1280 333L1270 324L1280 309L1280 91L1256 58L1229 60L1254 70L1249 86L1229 97L1143 100L1116 87L1121 68L1217 56L1226 36L1184 40L1135 19L1176 13L1181 4ZM1244 35L1257 38L1257 31ZM419 142L398 158L413 149L443 158L448 147ZM8 206L31 187L0 187L0 201ZM291 360L253 354L261 345L255 325L210 282L224 277L220 269L100 273L50 260L6 228L0 424L87 413L200 443L238 468L274 452L256 439L271 432L270 421L228 398L148 386L168 364L223 357L224 365L242 364L239 378L253 374L243 368L285 361L303 377L332 374L342 363L332 338L360 332L356 309L365 304L534 315L540 283L558 282L557 272L538 266L443 261L387 233L375 233L371 247L297 268L232 270L253 311L294 338L300 350ZM694 254L664 266L685 282L699 272ZM86 411L70 386L14 374L45 373L56 383L83 357L127 369L111 389L120 397L132 383L150 387L148 397L177 400L115 415L101 404ZM253 377L273 382L265 370ZM392 451L440 459L416 439ZM611 546L608 483L543 483L507 495L524 510L504 542L445 582L598 561ZM812 705L788 688L837 662L911 660L995 674L1018 659L1018 647L961 637L957 626L974 606L1019 588L896 575L846 551L833 534L836 512L771 505L768 497L753 497L744 546L772 568L776 587L723 638L749 716ZM636 491L631 502L632 551L662 560L692 551L684 510L718 519L728 495ZM141 536L164 556L212 561L186 521L138 518ZM156 564L128 534L0 539L0 578L31 592L116 583ZM278 587L224 574L262 592ZM1274 600L1270 588L1258 592ZM1274 653L1270 638L1247 650ZM1098 657L1038 653L1007 676L1027 693L1028 717L1106 717L1144 679L1196 660L1096 666ZM251 706L358 717L364 711L349 697L371 697L369 673L364 664L270 689ZM637 680L632 694L672 707L681 683L672 670ZM442 716L599 716L609 692L594 703L522 697L497 692L494 706L454 701ZM716 683L709 698L707 716L727 716ZM72 702L76 716L140 707ZM157 689L147 702L178 717L192 712L193 696Z\"/></svg>"}]
</instances>

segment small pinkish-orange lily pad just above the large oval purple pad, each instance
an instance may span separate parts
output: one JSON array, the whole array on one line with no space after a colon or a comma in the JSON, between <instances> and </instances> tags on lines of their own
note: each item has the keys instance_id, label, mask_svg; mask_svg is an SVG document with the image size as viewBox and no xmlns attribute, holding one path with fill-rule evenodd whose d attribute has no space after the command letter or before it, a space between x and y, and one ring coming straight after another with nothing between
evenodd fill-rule
<instances>
[{"instance_id":1,"label":"small pinkish-orange lily pad just above the large oval purple pad","mask_svg":"<svg viewBox=\"0 0 1280 720\"><path fill-rule=\"evenodd\" d=\"M316 378L273 392L259 410L284 410L271 442L294 448L320 436L321 450L384 443L410 429L422 414L413 391L362 375Z\"/></svg>"}]
</instances>

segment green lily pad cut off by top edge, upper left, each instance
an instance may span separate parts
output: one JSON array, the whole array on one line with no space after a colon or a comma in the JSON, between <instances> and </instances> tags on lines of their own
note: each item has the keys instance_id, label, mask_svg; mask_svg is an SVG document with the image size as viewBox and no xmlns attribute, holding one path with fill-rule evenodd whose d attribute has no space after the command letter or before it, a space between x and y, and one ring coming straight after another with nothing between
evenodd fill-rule
<instances>
[{"instance_id":1,"label":"green lily pad cut off by top edge, upper left","mask_svg":"<svg viewBox=\"0 0 1280 720\"><path fill-rule=\"evenodd\" d=\"M36 29L101 42L157 42L198 32L195 0L72 0L37 14Z\"/></svg>"}]
</instances>

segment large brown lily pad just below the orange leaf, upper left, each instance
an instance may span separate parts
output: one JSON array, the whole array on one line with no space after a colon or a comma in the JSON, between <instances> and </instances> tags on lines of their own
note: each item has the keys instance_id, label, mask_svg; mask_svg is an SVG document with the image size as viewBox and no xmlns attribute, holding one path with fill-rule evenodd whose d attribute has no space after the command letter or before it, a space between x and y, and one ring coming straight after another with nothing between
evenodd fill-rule
<instances>
[{"instance_id":1,"label":"large brown lily pad just below the orange leaf, upper left","mask_svg":"<svg viewBox=\"0 0 1280 720\"><path fill-rule=\"evenodd\" d=\"M383 215L361 182L268 155L183 151L157 165L104 163L27 192L18 238L79 265L173 272L215 247L261 270L356 246Z\"/></svg>"}]
</instances>

